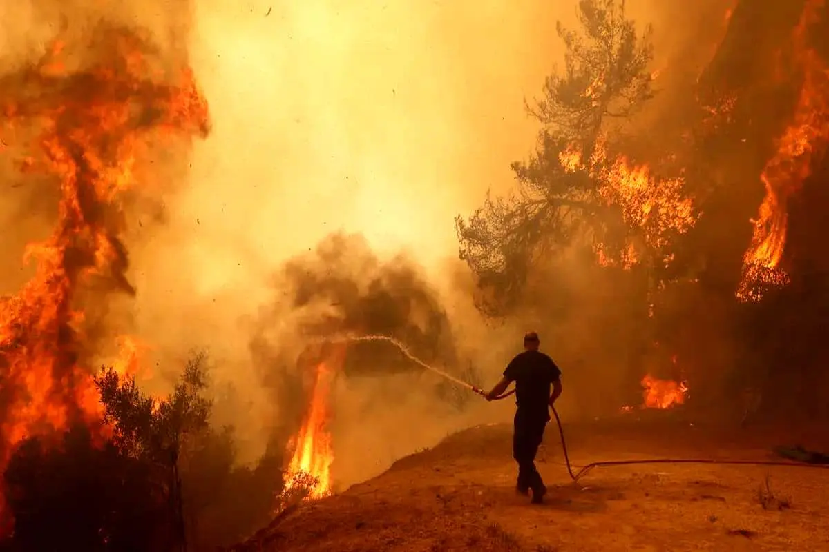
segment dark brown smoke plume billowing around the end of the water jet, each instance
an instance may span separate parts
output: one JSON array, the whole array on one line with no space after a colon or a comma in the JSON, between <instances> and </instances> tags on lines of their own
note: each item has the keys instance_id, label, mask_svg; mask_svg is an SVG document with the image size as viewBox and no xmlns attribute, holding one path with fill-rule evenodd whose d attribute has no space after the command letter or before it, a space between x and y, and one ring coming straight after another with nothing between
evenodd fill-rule
<instances>
[{"instance_id":1,"label":"dark brown smoke plume billowing around the end of the water jet","mask_svg":"<svg viewBox=\"0 0 829 552\"><path fill-rule=\"evenodd\" d=\"M313 252L289 260L274 278L274 295L274 305L259 314L251 351L264 384L274 391L282 423L298 424L313 368L332 341L346 336L396 338L424 362L472 375L458 360L441 298L419 267L405 256L377 257L361 236L333 234ZM389 343L345 347L341 377L388 378L404 372L423 380L420 389L434 389L444 400L462 403L468 396L424 374Z\"/></svg>"}]
</instances>

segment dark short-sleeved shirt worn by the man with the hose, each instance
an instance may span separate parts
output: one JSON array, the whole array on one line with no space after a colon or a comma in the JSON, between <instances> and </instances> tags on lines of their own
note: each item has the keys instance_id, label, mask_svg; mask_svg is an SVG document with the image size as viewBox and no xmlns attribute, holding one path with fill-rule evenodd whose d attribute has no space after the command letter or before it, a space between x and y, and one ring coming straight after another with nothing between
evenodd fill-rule
<instances>
[{"instance_id":1,"label":"dark short-sleeved shirt worn by the man with the hose","mask_svg":"<svg viewBox=\"0 0 829 552\"><path fill-rule=\"evenodd\" d=\"M518 353L504 370L504 377L516 382L516 406L527 415L550 419L550 385L558 381L561 371L553 359L541 351Z\"/></svg>"}]
</instances>

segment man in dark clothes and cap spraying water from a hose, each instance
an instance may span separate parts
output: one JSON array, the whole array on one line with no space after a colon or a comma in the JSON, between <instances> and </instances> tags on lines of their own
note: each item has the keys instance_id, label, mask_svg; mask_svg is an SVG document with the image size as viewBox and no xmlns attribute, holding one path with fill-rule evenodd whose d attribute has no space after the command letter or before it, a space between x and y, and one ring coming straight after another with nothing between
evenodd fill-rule
<instances>
[{"instance_id":1,"label":"man in dark clothes and cap spraying water from a hose","mask_svg":"<svg viewBox=\"0 0 829 552\"><path fill-rule=\"evenodd\" d=\"M524 336L524 352L516 355L504 370L504 377L487 401L507 391L516 382L516 416L512 434L512 457L518 463L516 490L523 495L532 491L532 502L541 504L547 487L536 469L536 453L550 421L549 407L561 395L561 371L553 359L538 350L536 332ZM552 392L550 392L550 386Z\"/></svg>"}]
</instances>

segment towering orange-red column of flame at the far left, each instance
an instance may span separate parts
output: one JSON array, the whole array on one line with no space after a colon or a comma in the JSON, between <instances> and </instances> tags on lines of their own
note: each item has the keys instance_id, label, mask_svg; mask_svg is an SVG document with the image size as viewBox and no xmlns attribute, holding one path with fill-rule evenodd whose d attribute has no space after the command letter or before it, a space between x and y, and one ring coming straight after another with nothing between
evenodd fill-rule
<instances>
[{"instance_id":1,"label":"towering orange-red column of flame at the far left","mask_svg":"<svg viewBox=\"0 0 829 552\"><path fill-rule=\"evenodd\" d=\"M12 144L28 150L20 167L59 190L56 227L25 255L37 263L35 275L0 297L0 470L30 435L98 422L89 365L96 343L85 330L100 320L87 319L83 307L134 293L120 239L124 190L148 176L142 168L150 164L140 161L160 138L208 132L189 69L171 82L145 57L148 45L124 29L101 26L84 46L85 61L71 72L61 57L66 45L56 41L35 67L0 78L4 152ZM125 343L126 372L136 361L133 342Z\"/></svg>"}]
</instances>

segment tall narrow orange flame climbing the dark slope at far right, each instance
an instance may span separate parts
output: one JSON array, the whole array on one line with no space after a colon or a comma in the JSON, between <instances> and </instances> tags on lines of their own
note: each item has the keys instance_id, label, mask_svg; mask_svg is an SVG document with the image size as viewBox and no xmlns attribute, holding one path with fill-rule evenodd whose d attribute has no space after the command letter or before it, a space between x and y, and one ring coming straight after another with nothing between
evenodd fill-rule
<instances>
[{"instance_id":1,"label":"tall narrow orange flame climbing the dark slope at far right","mask_svg":"<svg viewBox=\"0 0 829 552\"><path fill-rule=\"evenodd\" d=\"M829 142L829 69L820 55L807 46L808 26L818 18L825 0L810 0L803 8L794 32L797 64L803 84L793 121L779 138L777 152L768 160L760 179L765 198L754 224L751 245L743 257L743 275L737 290L739 300L759 300L764 288L788 284L779 266L786 246L787 201L812 173L812 159Z\"/></svg>"}]
</instances>

